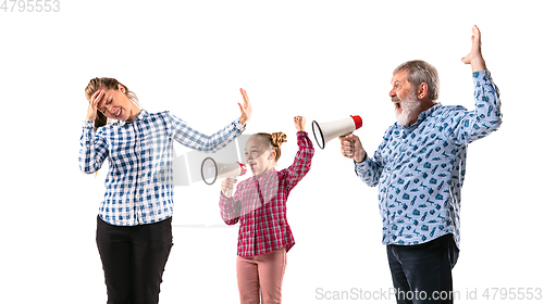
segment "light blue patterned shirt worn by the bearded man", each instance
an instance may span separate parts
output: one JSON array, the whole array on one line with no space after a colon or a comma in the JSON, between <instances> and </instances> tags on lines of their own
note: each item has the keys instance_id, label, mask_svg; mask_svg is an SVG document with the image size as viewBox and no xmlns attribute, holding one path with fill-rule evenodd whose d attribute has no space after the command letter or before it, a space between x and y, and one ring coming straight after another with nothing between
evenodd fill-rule
<instances>
[{"instance_id":1,"label":"light blue patterned shirt worn by the bearded man","mask_svg":"<svg viewBox=\"0 0 544 304\"><path fill-rule=\"evenodd\" d=\"M355 164L379 186L384 244L413 245L453 233L459 246L459 211L467 145L502 123L499 92L487 69L472 74L475 110L436 104L408 128L392 125L374 153Z\"/></svg>"}]
</instances>

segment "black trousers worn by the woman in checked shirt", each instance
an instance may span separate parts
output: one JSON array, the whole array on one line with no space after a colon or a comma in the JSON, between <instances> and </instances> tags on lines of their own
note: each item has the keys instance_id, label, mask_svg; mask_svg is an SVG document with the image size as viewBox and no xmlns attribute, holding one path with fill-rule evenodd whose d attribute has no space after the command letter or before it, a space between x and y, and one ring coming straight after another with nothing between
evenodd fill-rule
<instances>
[{"instance_id":1,"label":"black trousers worn by the woman in checked shirt","mask_svg":"<svg viewBox=\"0 0 544 304\"><path fill-rule=\"evenodd\" d=\"M98 216L97 245L108 304L159 303L162 273L173 245L172 217L154 224L113 226Z\"/></svg>"}]
</instances>

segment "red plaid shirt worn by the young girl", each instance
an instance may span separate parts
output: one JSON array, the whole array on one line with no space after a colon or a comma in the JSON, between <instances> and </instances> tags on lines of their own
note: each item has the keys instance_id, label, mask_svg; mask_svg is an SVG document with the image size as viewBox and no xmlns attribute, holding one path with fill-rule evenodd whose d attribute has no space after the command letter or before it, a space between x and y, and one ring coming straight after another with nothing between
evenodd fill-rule
<instances>
[{"instance_id":1,"label":"red plaid shirt worn by the young girl","mask_svg":"<svg viewBox=\"0 0 544 304\"><path fill-rule=\"evenodd\" d=\"M281 172L274 168L260 178L239 182L232 198L221 193L221 217L227 225L240 221L237 254L243 257L261 255L295 244L286 218L286 202L290 190L310 170L313 145L308 134L297 134L298 152L293 164Z\"/></svg>"}]
</instances>

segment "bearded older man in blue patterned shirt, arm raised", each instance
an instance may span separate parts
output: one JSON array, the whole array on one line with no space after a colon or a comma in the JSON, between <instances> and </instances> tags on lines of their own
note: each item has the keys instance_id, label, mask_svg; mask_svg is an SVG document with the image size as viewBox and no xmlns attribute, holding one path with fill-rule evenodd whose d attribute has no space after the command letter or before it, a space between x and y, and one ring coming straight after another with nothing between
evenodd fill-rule
<instances>
[{"instance_id":1,"label":"bearded older man in blue patterned shirt, arm raised","mask_svg":"<svg viewBox=\"0 0 544 304\"><path fill-rule=\"evenodd\" d=\"M341 138L342 153L354 159L357 176L379 186L382 241L397 303L453 302L467 145L502 123L498 89L486 69L477 26L472 34L472 50L462 62L472 67L475 110L438 103L436 69L409 61L393 72L390 97L397 122L374 156L367 156L357 136Z\"/></svg>"}]
</instances>

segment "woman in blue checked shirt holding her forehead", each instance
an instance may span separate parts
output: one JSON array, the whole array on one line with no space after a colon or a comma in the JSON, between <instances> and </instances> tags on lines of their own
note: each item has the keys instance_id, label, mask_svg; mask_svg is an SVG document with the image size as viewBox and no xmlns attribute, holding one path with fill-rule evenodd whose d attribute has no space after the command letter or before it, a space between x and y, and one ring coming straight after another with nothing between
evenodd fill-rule
<instances>
[{"instance_id":1,"label":"woman in blue checked shirt holding her forehead","mask_svg":"<svg viewBox=\"0 0 544 304\"><path fill-rule=\"evenodd\" d=\"M109 161L97 217L108 303L159 302L172 248L173 140L200 151L226 145L244 131L251 116L247 94L243 89L240 92L244 105L238 103L239 119L207 136L169 112L141 110L136 96L113 78L89 81L79 167L90 174Z\"/></svg>"}]
</instances>

